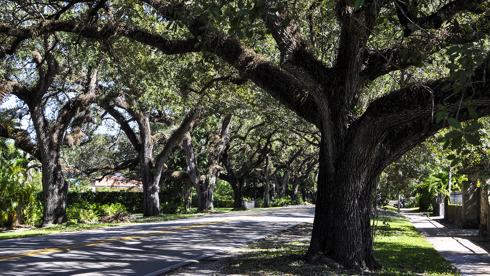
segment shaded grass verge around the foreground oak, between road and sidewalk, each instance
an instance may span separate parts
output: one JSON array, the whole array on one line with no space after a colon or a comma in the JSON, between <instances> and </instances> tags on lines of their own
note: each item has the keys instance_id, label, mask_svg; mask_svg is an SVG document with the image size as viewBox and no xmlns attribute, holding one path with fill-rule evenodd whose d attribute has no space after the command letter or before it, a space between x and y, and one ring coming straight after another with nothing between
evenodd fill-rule
<instances>
[{"instance_id":1,"label":"shaded grass verge around the foreground oak, between road and sidewalk","mask_svg":"<svg viewBox=\"0 0 490 276\"><path fill-rule=\"evenodd\" d=\"M385 221L385 224L383 224ZM387 226L386 222L390 226ZM383 211L374 254L386 270L355 272L327 266L326 259L305 261L312 224L302 224L281 234L223 253L170 276L456 276L452 266L402 215ZM324 261L325 260L325 261Z\"/></svg>"}]
</instances>

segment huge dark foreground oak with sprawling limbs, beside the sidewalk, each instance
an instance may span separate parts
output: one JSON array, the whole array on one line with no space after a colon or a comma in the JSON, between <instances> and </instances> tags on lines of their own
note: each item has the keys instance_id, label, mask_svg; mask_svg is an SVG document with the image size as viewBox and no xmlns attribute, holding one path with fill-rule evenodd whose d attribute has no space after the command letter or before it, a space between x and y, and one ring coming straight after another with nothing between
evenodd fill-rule
<instances>
[{"instance_id":1,"label":"huge dark foreground oak with sprawling limbs, beside the sidewalk","mask_svg":"<svg viewBox=\"0 0 490 276\"><path fill-rule=\"evenodd\" d=\"M163 55L203 52L208 59L228 63L316 125L321 142L310 258L321 250L348 267L379 268L369 227L371 192L378 175L446 127L441 120L445 115L458 126L455 120L490 113L489 58L474 58L475 52L468 49L480 48L484 56L490 50L483 42L489 34L487 0L291 4L143 0L146 8L140 9L139 16L171 23L171 35L157 28L156 21L133 20L138 18L137 9L125 10L105 0L90 3L88 11L73 20L64 20L62 13L75 2L56 2L48 20L39 18L30 26L0 24L0 33L11 37L10 46L2 51L17 47L18 39L64 31L100 40L125 36ZM73 11L81 10L77 5ZM275 43L277 55L270 44L260 43L262 34L266 42ZM454 46L449 52L452 57L441 59L443 64L452 63L451 77L436 72L433 79L373 99L365 110L357 108L378 78L423 66L431 56ZM455 92L459 94L454 96ZM460 101L461 95L472 101L469 108L460 108L469 102ZM442 117L436 120L438 104ZM456 144L461 131L457 135Z\"/></svg>"}]
</instances>

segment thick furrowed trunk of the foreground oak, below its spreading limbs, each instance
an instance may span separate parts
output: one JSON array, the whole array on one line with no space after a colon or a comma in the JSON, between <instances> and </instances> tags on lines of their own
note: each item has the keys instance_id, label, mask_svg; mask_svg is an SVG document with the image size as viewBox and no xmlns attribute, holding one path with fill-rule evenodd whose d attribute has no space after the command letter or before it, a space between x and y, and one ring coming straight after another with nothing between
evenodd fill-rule
<instances>
[{"instance_id":1,"label":"thick furrowed trunk of the foreground oak, below its spreading limbs","mask_svg":"<svg viewBox=\"0 0 490 276\"><path fill-rule=\"evenodd\" d=\"M364 167L366 160L359 162L360 156L345 155L338 159L341 161L337 166L329 166L323 140L322 137L315 221L307 257L314 258L321 250L346 268L378 269L381 266L374 260L369 227L377 170Z\"/></svg>"}]
</instances>

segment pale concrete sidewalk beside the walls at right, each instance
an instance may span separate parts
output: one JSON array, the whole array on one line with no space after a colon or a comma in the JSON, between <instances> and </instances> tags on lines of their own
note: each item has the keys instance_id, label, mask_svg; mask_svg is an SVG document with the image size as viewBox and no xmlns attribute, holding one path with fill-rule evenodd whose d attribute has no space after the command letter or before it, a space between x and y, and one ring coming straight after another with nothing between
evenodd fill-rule
<instances>
[{"instance_id":1,"label":"pale concrete sidewalk beside the walls at right","mask_svg":"<svg viewBox=\"0 0 490 276\"><path fill-rule=\"evenodd\" d=\"M421 213L404 215L461 275L490 276L490 254L466 239L478 236L478 230L450 229Z\"/></svg>"}]
</instances>

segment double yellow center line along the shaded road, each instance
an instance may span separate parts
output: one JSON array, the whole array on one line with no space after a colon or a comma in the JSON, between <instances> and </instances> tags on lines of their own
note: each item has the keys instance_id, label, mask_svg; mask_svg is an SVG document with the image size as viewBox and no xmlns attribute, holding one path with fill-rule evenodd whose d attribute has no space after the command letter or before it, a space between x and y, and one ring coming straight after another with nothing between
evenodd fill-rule
<instances>
[{"instance_id":1,"label":"double yellow center line along the shaded road","mask_svg":"<svg viewBox=\"0 0 490 276\"><path fill-rule=\"evenodd\" d=\"M25 253L20 253L20 254L11 254L11 255L0 256L0 261L17 259L17 258L22 258L22 257L27 257L27 256L35 256L35 255L47 254L47 253L58 252L58 251L63 251L63 250L71 250L71 249L75 249L75 248L82 248L82 247L89 247L89 246L97 246L97 245L109 244L109 243L114 243L114 242L119 242L119 241L127 241L127 240L132 240L132 239L150 237L150 236L160 235L160 234L164 234L164 233L175 232L175 231L179 231L179 230L185 230L185 229L196 228L196 227L201 227L201 226L210 225L210 224L221 223L221 222L225 222L225 221L238 220L240 218L245 218L245 217L254 217L254 216L259 216L259 215L267 215L267 214L280 213L280 212L291 212L291 211L297 211L297 210L306 210L306 209L309 209L309 208L313 208L313 207L301 208L301 209L294 209L294 210L282 210L282 211L266 212L266 213L252 214L252 215L245 215L245 216L238 216L238 217L233 218L233 219L226 219L226 220L221 220L221 221L205 222L205 223L195 224L195 225L189 225L189 226L181 226L181 227L173 228L173 229L170 229L170 230L154 231L154 232L150 232L150 233L143 234L143 235L138 235L138 236L127 236L127 237L121 237L121 238L115 238L115 239L107 239L107 240L101 240L101 241L98 241L98 242L78 244L78 245L61 247L61 248L43 248L41 250L30 251L30 252L25 252Z\"/></svg>"}]
</instances>

